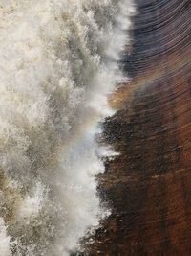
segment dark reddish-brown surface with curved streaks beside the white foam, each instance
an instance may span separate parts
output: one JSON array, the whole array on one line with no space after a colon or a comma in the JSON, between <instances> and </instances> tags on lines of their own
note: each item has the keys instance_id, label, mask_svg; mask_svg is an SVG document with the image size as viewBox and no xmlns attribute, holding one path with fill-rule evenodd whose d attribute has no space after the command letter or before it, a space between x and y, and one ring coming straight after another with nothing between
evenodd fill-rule
<instances>
[{"instance_id":1,"label":"dark reddish-brown surface with curved streaks beside the white foam","mask_svg":"<svg viewBox=\"0 0 191 256\"><path fill-rule=\"evenodd\" d=\"M191 1L137 0L132 81L104 124L120 155L100 190L113 214L88 255L191 255Z\"/></svg>"}]
</instances>

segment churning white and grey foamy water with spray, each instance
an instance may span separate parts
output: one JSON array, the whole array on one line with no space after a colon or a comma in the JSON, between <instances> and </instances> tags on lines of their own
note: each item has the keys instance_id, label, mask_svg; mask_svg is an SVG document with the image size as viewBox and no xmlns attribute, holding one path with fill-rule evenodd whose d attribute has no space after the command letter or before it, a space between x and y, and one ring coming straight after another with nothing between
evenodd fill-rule
<instances>
[{"instance_id":1,"label":"churning white and grey foamy water with spray","mask_svg":"<svg viewBox=\"0 0 191 256\"><path fill-rule=\"evenodd\" d=\"M0 1L0 256L69 255L107 214L98 123L130 0Z\"/></svg>"}]
</instances>

